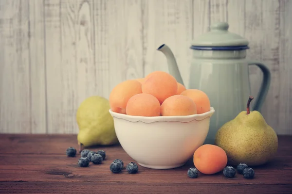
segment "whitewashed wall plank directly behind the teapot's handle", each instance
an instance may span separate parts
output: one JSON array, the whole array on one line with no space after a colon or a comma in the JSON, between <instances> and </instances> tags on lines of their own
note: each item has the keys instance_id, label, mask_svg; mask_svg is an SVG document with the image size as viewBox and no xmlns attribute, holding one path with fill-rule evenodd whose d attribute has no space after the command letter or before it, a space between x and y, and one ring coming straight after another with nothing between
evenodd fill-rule
<instances>
[{"instance_id":1,"label":"whitewashed wall plank directly behind the teapot's handle","mask_svg":"<svg viewBox=\"0 0 292 194\"><path fill-rule=\"evenodd\" d=\"M264 63L271 71L271 86L261 112L267 123L278 131L280 118L279 4L278 1L246 0L245 5L245 36L249 39L251 48L247 53L248 58ZM250 79L252 95L257 97L263 75L255 65L250 67ZM254 105L254 102L252 104Z\"/></svg>"}]
</instances>

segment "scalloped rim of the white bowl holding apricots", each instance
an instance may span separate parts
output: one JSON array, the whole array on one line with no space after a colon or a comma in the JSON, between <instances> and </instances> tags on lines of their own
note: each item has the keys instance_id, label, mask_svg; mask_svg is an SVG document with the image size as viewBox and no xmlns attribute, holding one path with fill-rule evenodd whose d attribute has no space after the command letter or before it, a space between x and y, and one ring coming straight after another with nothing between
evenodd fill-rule
<instances>
[{"instance_id":1,"label":"scalloped rim of the white bowl holding apricots","mask_svg":"<svg viewBox=\"0 0 292 194\"><path fill-rule=\"evenodd\" d=\"M210 107L210 111L206 113L201 114L192 114L192 115L186 115L186 116L132 116L128 114L122 114L122 113L115 113L111 109L109 110L112 117L124 119L129 122L144 122L144 123L154 123L158 121L164 121L164 122L182 122L182 123L188 123L193 120L201 121L207 117L211 117L215 113L215 109L213 107Z\"/></svg>"}]
</instances>

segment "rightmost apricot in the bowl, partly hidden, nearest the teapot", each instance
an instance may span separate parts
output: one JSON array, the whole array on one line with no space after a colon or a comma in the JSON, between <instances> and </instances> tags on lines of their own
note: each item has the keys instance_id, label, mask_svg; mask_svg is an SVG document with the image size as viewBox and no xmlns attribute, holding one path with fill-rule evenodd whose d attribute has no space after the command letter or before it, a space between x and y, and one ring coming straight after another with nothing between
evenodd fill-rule
<instances>
[{"instance_id":1,"label":"rightmost apricot in the bowl, partly hidden, nearest the teapot","mask_svg":"<svg viewBox=\"0 0 292 194\"><path fill-rule=\"evenodd\" d=\"M181 95L190 97L197 105L197 114L206 113L210 111L211 105L209 97L201 90L187 89Z\"/></svg>"}]
</instances>

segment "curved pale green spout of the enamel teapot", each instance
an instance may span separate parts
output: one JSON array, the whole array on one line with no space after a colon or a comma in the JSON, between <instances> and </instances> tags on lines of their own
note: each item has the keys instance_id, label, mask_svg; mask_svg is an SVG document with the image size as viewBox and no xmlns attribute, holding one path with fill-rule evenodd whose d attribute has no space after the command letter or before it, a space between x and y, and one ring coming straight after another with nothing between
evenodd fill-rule
<instances>
[{"instance_id":1,"label":"curved pale green spout of the enamel teapot","mask_svg":"<svg viewBox=\"0 0 292 194\"><path fill-rule=\"evenodd\" d=\"M173 77L175 77L177 82L183 84L183 79L182 79L179 67L177 65L177 62L175 60L175 57L174 57L171 49L169 49L169 47L167 45L163 44L157 50L161 51L165 55L169 73Z\"/></svg>"}]
</instances>

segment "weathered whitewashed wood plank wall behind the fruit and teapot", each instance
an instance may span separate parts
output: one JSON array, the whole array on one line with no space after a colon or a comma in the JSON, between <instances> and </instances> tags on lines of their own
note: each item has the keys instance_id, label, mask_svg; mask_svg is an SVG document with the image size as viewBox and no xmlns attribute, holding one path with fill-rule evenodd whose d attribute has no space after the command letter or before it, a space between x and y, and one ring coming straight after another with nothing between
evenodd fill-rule
<instances>
[{"instance_id":1,"label":"weathered whitewashed wood plank wall behind the fruit and teapot","mask_svg":"<svg viewBox=\"0 0 292 194\"><path fill-rule=\"evenodd\" d=\"M0 0L0 132L77 133L86 97L168 71L163 43L188 84L191 40L227 21L272 71L263 116L292 134L291 19L292 0ZM262 75L250 74L256 97Z\"/></svg>"}]
</instances>

